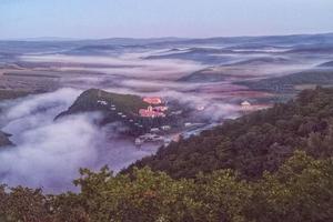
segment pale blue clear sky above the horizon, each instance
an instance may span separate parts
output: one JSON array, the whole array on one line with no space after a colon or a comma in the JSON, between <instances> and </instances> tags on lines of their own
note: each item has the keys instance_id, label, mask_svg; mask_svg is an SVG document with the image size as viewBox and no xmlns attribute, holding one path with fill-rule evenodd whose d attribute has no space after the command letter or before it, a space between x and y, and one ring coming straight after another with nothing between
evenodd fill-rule
<instances>
[{"instance_id":1,"label":"pale blue clear sky above the horizon","mask_svg":"<svg viewBox=\"0 0 333 222\"><path fill-rule=\"evenodd\" d=\"M333 32L333 0L0 0L0 39Z\"/></svg>"}]
</instances>

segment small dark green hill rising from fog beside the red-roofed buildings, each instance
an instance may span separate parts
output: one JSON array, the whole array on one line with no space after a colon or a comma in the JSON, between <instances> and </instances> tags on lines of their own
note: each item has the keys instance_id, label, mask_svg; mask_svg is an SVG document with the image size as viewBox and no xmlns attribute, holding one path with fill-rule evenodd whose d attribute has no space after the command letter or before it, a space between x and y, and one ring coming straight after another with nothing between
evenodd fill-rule
<instances>
[{"instance_id":1,"label":"small dark green hill rising from fog beside the red-roofed buildings","mask_svg":"<svg viewBox=\"0 0 333 222\"><path fill-rule=\"evenodd\" d=\"M124 133L130 135L140 135L150 132L151 128L175 122L174 115L154 118L140 115L139 111L148 109L149 105L150 103L144 102L139 95L90 89L82 92L67 111L56 117L56 120L70 114L99 111L103 114L100 125L121 122L128 127Z\"/></svg>"}]
</instances>

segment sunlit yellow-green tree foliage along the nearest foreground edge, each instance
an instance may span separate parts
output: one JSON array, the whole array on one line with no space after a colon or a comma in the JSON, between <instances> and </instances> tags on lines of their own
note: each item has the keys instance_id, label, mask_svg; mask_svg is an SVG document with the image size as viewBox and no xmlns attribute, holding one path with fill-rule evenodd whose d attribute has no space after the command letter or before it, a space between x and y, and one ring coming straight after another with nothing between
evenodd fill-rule
<instances>
[{"instance_id":1,"label":"sunlit yellow-green tree foliage along the nearest foreground edge","mask_svg":"<svg viewBox=\"0 0 333 222\"><path fill-rule=\"evenodd\" d=\"M172 179L149 168L131 175L81 170L79 193L43 195L40 190L1 186L2 221L332 221L333 159L296 151L258 181L233 170Z\"/></svg>"}]
</instances>

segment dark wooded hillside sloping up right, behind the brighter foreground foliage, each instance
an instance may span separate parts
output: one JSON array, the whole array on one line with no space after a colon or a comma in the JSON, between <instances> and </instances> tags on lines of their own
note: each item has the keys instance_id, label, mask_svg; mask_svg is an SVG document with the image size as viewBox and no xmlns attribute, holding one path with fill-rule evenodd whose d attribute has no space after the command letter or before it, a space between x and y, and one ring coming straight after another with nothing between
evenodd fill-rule
<instances>
[{"instance_id":1,"label":"dark wooded hillside sloping up right, behind the brighter foreground foliage","mask_svg":"<svg viewBox=\"0 0 333 222\"><path fill-rule=\"evenodd\" d=\"M173 178L234 169L243 178L275 171L296 149L315 157L333 154L333 89L305 90L285 104L226 121L199 137L161 148L133 167L150 167ZM130 168L130 169L131 169ZM125 172L128 172L125 170Z\"/></svg>"}]
</instances>

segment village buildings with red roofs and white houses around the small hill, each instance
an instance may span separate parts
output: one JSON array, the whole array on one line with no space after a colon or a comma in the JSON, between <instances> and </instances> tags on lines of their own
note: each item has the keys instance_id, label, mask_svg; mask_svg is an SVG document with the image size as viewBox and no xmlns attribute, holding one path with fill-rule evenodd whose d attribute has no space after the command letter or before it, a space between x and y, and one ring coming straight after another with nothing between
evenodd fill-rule
<instances>
[{"instance_id":1,"label":"village buildings with red roofs and white houses around the small hill","mask_svg":"<svg viewBox=\"0 0 333 222\"><path fill-rule=\"evenodd\" d=\"M118 110L117 105L112 102L99 99L97 101L98 105L107 108L112 113L117 114L122 119L123 122L128 122L131 125L143 129L144 125L142 121L139 120L154 120L164 119L170 115L180 115L183 110L176 109L172 110L168 107L168 101L160 97L144 97L142 101L148 104L148 107L139 109L135 117L128 115ZM241 112L252 112L260 109L258 105L251 104L249 101L243 101L240 104ZM204 105L196 105L195 110L198 112L204 111ZM134 144L140 149L144 143L158 143L160 145L167 147L172 141L178 141L180 137L189 138L192 134L198 134L206 128L213 127L212 124L203 122L189 122L189 121L178 121L181 125L161 124L158 127L151 127L144 133L135 137Z\"/></svg>"}]
</instances>

